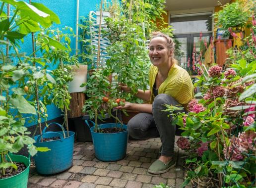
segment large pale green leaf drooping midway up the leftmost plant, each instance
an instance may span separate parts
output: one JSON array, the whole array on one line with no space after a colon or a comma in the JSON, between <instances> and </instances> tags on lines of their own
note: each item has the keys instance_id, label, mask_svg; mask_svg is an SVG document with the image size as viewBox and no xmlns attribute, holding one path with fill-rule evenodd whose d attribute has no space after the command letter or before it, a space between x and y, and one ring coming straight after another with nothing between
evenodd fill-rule
<instances>
[{"instance_id":1,"label":"large pale green leaf drooping midway up the leftmost plant","mask_svg":"<svg viewBox=\"0 0 256 188\"><path fill-rule=\"evenodd\" d=\"M15 98L10 98L11 104L23 114L35 114L36 109L23 96L17 95Z\"/></svg>"}]
</instances>

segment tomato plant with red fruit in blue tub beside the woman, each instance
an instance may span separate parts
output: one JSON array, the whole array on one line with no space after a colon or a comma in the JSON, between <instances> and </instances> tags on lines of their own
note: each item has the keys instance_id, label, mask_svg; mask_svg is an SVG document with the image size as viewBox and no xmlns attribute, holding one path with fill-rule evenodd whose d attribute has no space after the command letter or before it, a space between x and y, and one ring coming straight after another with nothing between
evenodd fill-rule
<instances>
[{"instance_id":1,"label":"tomato plant with red fruit in blue tub beside the woman","mask_svg":"<svg viewBox=\"0 0 256 188\"><path fill-rule=\"evenodd\" d=\"M106 93L110 91L110 83L103 72L102 69L97 69L86 83L86 94L89 98L85 101L84 111L90 115L90 119L95 119L95 123L91 120L85 120L85 122L92 135L96 158L101 161L117 161L126 156L128 132L127 126L112 115L112 109L118 106L118 103L106 96ZM98 125L98 119L104 119L106 113L120 124ZM89 122L93 123L92 127Z\"/></svg>"}]
</instances>

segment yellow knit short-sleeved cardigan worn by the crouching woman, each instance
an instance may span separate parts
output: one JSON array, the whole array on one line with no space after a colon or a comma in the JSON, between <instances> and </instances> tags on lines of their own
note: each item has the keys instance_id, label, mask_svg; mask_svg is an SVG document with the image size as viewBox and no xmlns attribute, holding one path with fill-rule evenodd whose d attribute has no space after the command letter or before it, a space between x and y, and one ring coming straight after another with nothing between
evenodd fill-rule
<instances>
[{"instance_id":1,"label":"yellow knit short-sleeved cardigan worn by the crouching woman","mask_svg":"<svg viewBox=\"0 0 256 188\"><path fill-rule=\"evenodd\" d=\"M149 69L150 104L152 104L155 97L152 91L157 72L158 68L151 65ZM169 70L168 77L158 88L158 94L169 94L186 108L189 101L194 97L193 84L189 73L174 64Z\"/></svg>"}]
</instances>

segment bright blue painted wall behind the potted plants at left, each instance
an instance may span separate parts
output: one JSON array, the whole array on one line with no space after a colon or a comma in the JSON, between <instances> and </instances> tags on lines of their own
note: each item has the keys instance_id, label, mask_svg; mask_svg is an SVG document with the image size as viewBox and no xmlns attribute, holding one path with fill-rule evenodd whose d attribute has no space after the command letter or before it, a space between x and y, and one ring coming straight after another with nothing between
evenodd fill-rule
<instances>
[{"instance_id":1,"label":"bright blue painted wall behind the potted plants at left","mask_svg":"<svg viewBox=\"0 0 256 188\"><path fill-rule=\"evenodd\" d=\"M24 0L29 2L29 0ZM75 33L76 30L76 0L32 0L33 2L43 3L45 6L54 11L60 18L61 24L53 24L52 28L64 28L69 26L73 28ZM79 0L79 16L87 17L89 11L96 10L96 5L100 4L100 0ZM99 7L99 6L98 6ZM79 30L78 30L79 32ZM75 49L75 38L71 39L72 54ZM79 49L80 46L78 46ZM32 52L31 35L26 36L24 44L22 45L22 51L30 54ZM48 109L48 120L55 119L61 116L61 111L55 107L55 105L47 106ZM35 125L36 122L26 123L25 126Z\"/></svg>"}]
</instances>

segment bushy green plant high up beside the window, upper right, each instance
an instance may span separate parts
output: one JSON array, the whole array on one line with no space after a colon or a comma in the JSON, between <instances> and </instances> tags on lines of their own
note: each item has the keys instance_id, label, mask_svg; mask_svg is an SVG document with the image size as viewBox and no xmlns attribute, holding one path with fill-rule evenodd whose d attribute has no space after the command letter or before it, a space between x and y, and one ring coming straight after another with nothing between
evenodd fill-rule
<instances>
[{"instance_id":1,"label":"bushy green plant high up beside the window, upper right","mask_svg":"<svg viewBox=\"0 0 256 188\"><path fill-rule=\"evenodd\" d=\"M246 8L249 4L249 2L239 0L224 5L220 4L222 10L213 14L216 26L221 28L218 34L223 37L229 36L229 28L234 28L233 30L238 33L244 31L250 17L250 12Z\"/></svg>"}]
</instances>

